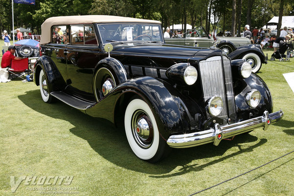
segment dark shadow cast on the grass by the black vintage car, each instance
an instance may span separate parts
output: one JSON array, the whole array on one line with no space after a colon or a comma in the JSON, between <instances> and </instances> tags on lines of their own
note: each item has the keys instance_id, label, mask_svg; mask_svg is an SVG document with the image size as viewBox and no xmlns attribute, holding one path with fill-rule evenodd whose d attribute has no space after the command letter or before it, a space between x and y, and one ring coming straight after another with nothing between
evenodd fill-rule
<instances>
[{"instance_id":1,"label":"dark shadow cast on the grass by the black vintage car","mask_svg":"<svg viewBox=\"0 0 294 196\"><path fill-rule=\"evenodd\" d=\"M250 152L267 142L261 139L257 144L244 147L242 143L256 142L258 139L250 134L237 136L232 141L223 140L218 147L212 144L202 145L184 149L173 149L171 154L156 164L150 164L137 158L125 137L124 128L115 128L107 120L90 117L67 104L56 101L53 104L43 102L40 91L28 91L18 97L26 106L34 111L49 116L54 119L61 119L73 124L74 128L69 131L79 138L88 142L88 144L107 161L131 171L150 174L151 177L164 178L175 175L181 175L186 172L197 172L207 166L219 163L238 154ZM222 156L228 149L239 147L239 151L223 156L211 162L204 162L205 158ZM194 160L199 160L199 164L189 165ZM178 166L182 168L169 174Z\"/></svg>"}]
</instances>

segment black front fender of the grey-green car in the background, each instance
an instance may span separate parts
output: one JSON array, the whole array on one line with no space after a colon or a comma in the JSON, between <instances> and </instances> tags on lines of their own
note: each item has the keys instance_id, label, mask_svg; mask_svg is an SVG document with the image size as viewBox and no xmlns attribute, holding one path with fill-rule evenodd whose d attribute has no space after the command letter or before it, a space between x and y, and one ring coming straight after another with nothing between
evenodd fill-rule
<instances>
[{"instance_id":1,"label":"black front fender of the grey-green car in the background","mask_svg":"<svg viewBox=\"0 0 294 196\"><path fill-rule=\"evenodd\" d=\"M255 44L240 46L235 51L229 53L228 57L230 57L231 60L242 59L247 53L255 53L260 57L261 63L267 63L265 54L261 50L260 46Z\"/></svg>"}]
</instances>

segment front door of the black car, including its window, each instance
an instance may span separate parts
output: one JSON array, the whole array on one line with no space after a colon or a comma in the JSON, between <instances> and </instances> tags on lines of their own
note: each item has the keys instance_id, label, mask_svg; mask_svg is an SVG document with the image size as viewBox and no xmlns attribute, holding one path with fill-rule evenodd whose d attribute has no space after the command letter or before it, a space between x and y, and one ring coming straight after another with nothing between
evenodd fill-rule
<instances>
[{"instance_id":1,"label":"front door of the black car, including its window","mask_svg":"<svg viewBox=\"0 0 294 196\"><path fill-rule=\"evenodd\" d=\"M70 91L78 98L93 100L94 68L99 62L98 42L93 25L71 25L71 44L67 46Z\"/></svg>"}]
</instances>

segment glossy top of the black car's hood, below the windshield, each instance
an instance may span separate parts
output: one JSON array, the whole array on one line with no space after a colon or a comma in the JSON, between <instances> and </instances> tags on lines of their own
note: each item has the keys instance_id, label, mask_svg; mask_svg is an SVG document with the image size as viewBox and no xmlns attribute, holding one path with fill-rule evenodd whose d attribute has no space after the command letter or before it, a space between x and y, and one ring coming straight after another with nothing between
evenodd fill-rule
<instances>
[{"instance_id":1,"label":"glossy top of the black car's hood, below the windshield","mask_svg":"<svg viewBox=\"0 0 294 196\"><path fill-rule=\"evenodd\" d=\"M205 58L215 49L183 47L178 45L168 44L122 44L114 46L111 54L114 55L132 55L146 56L171 59L190 59L190 58ZM197 54L197 55L196 55ZM195 57L196 56L196 57Z\"/></svg>"}]
</instances>

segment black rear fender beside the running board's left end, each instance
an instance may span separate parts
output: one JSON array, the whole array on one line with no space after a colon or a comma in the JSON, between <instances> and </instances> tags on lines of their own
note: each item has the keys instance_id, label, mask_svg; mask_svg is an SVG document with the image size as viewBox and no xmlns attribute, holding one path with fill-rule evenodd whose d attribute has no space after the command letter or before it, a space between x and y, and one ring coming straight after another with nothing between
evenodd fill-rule
<instances>
[{"instance_id":1,"label":"black rear fender beside the running board's left end","mask_svg":"<svg viewBox=\"0 0 294 196\"><path fill-rule=\"evenodd\" d=\"M66 82L59 73L55 63L47 55L39 57L34 66L34 82L38 86L40 71L43 70L48 81L49 92L64 90Z\"/></svg>"}]
</instances>

